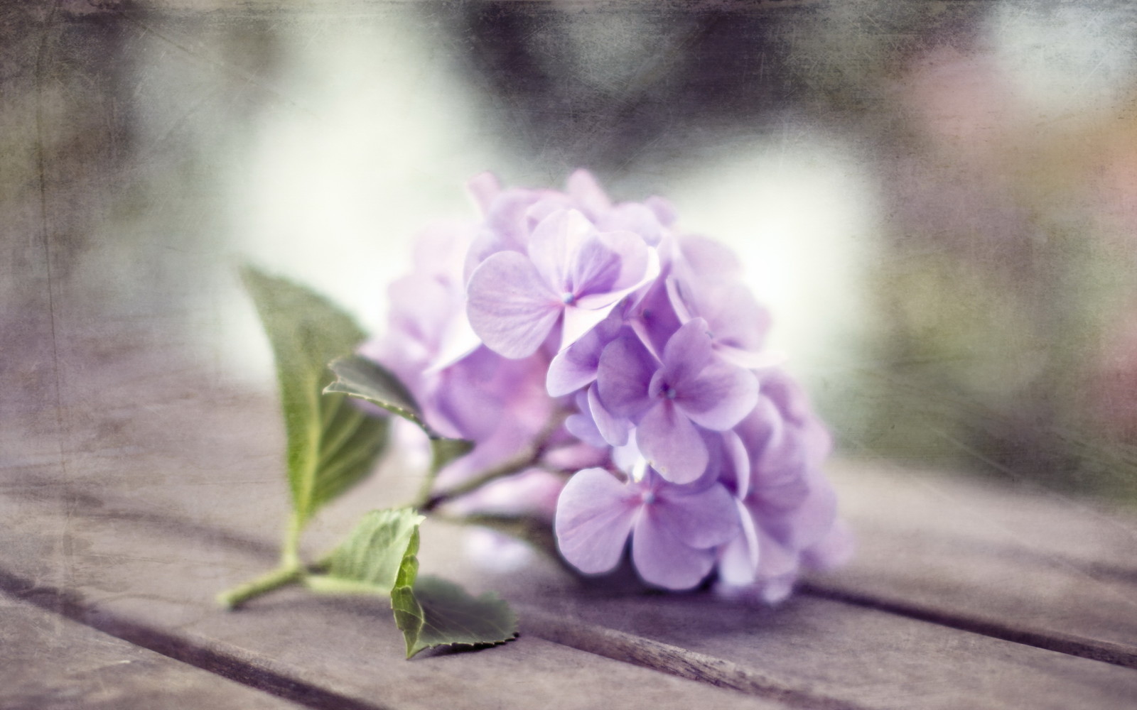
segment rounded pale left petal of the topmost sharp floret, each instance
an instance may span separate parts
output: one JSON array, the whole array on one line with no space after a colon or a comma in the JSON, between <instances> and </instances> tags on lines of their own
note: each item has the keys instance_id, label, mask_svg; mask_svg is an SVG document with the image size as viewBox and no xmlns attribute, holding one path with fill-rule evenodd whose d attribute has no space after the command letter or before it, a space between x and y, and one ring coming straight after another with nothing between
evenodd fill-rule
<instances>
[{"instance_id":1,"label":"rounded pale left petal of the topmost sharp floret","mask_svg":"<svg viewBox=\"0 0 1137 710\"><path fill-rule=\"evenodd\" d=\"M514 251L483 261L470 276L466 312L482 342L507 358L524 358L540 348L562 303L541 281L533 264Z\"/></svg>"}]
</instances>

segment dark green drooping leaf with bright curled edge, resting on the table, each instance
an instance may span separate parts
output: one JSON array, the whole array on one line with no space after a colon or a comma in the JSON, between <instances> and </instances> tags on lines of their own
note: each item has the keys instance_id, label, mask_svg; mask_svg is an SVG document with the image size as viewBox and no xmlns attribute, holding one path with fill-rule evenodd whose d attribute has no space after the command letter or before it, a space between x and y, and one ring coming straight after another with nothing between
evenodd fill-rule
<instances>
[{"instance_id":1,"label":"dark green drooping leaf with bright curled edge, resting on the table","mask_svg":"<svg viewBox=\"0 0 1137 710\"><path fill-rule=\"evenodd\" d=\"M433 646L491 645L517 635L517 616L496 593L474 598L438 577L422 577L413 587L396 586L391 609L407 658Z\"/></svg>"}]
</instances>

